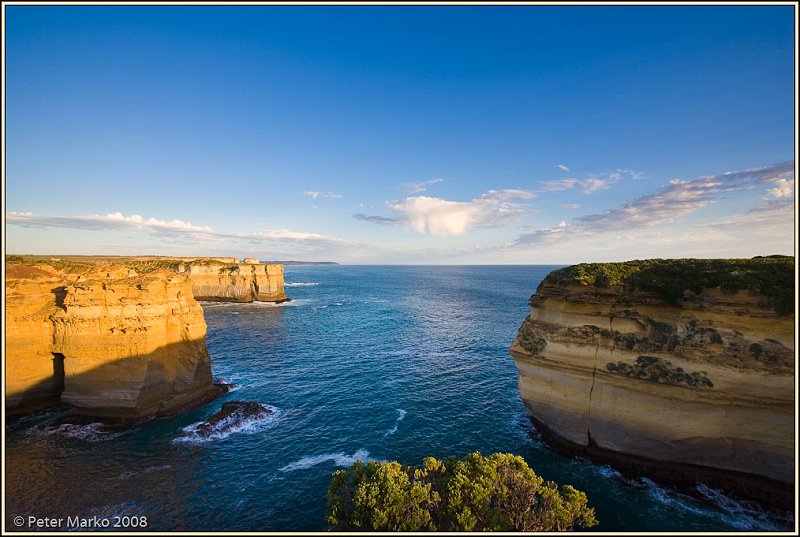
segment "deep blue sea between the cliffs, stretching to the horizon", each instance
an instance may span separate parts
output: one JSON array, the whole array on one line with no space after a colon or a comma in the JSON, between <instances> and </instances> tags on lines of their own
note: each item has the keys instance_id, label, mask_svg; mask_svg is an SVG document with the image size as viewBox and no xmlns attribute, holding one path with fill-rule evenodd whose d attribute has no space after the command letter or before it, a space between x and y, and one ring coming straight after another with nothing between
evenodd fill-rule
<instances>
[{"instance_id":1,"label":"deep blue sea between the cliffs, stretching to the horizon","mask_svg":"<svg viewBox=\"0 0 800 537\"><path fill-rule=\"evenodd\" d=\"M597 531L791 530L790 514L703 484L692 499L538 439L508 347L554 268L288 266L291 302L203 303L214 376L237 388L123 433L56 428L59 412L7 426L6 528L15 516L136 515L154 531L324 531L331 473L356 459L503 451L585 491ZM194 434L229 400L274 414Z\"/></svg>"}]
</instances>

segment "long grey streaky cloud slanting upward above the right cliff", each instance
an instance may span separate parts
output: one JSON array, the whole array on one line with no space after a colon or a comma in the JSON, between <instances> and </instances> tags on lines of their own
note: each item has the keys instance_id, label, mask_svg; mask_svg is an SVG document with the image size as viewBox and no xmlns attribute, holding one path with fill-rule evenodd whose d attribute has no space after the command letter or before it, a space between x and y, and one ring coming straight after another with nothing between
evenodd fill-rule
<instances>
[{"instance_id":1,"label":"long grey streaky cloud slanting upward above the right cliff","mask_svg":"<svg viewBox=\"0 0 800 537\"><path fill-rule=\"evenodd\" d=\"M572 234L653 227L715 203L725 193L741 192L769 183L779 185L770 191L778 190L783 193L786 187L783 181L794 183L794 162L742 172L725 172L690 181L673 179L654 194L642 196L603 213L581 216L566 226L525 233L513 245L539 244ZM564 233L567 230L569 234Z\"/></svg>"}]
</instances>

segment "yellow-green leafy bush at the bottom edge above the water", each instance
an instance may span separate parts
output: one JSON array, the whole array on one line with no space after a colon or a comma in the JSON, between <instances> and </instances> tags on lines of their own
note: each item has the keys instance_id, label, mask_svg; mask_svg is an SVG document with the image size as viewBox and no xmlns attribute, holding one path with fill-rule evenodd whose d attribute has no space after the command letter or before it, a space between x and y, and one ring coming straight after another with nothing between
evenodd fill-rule
<instances>
[{"instance_id":1,"label":"yellow-green leafy bush at the bottom edge above the water","mask_svg":"<svg viewBox=\"0 0 800 537\"><path fill-rule=\"evenodd\" d=\"M337 530L563 531L597 524L586 494L545 482L516 455L472 453L422 466L361 461L333 474Z\"/></svg>"}]
</instances>

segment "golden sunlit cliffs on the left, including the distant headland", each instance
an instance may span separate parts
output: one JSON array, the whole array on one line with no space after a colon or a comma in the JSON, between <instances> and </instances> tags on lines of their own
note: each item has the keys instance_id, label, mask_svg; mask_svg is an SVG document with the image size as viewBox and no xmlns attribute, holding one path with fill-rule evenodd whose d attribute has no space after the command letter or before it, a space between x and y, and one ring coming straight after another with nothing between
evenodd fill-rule
<instances>
[{"instance_id":1,"label":"golden sunlit cliffs on the left, including the distant headland","mask_svg":"<svg viewBox=\"0 0 800 537\"><path fill-rule=\"evenodd\" d=\"M197 299L287 300L256 260L42 258L6 264L6 413L58 403L135 423L203 404L214 385ZM112 264L113 263L113 264Z\"/></svg>"}]
</instances>

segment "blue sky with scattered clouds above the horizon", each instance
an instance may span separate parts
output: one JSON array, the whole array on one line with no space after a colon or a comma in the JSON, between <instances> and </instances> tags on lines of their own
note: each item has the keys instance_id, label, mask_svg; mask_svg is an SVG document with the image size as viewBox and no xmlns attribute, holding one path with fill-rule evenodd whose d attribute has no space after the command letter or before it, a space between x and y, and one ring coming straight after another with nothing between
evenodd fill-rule
<instances>
[{"instance_id":1,"label":"blue sky with scattered clouds above the horizon","mask_svg":"<svg viewBox=\"0 0 800 537\"><path fill-rule=\"evenodd\" d=\"M794 252L795 6L4 9L7 254Z\"/></svg>"}]
</instances>

